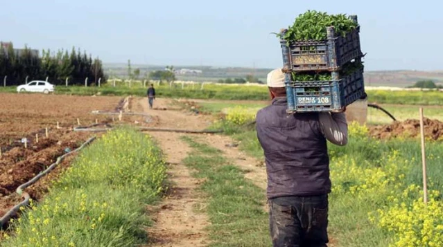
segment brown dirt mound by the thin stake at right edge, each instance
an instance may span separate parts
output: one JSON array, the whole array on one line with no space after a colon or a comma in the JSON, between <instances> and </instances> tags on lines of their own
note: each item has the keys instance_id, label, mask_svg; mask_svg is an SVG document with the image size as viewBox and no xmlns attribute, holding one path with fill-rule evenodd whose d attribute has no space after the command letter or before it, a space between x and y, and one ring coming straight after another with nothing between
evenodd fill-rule
<instances>
[{"instance_id":1,"label":"brown dirt mound by the thin stake at right edge","mask_svg":"<svg viewBox=\"0 0 443 247\"><path fill-rule=\"evenodd\" d=\"M443 122L424 118L424 136L433 140L443 139ZM420 136L420 120L408 119L404 122L394 122L391 125L374 126L370 135L375 138L415 138Z\"/></svg>"}]
</instances>

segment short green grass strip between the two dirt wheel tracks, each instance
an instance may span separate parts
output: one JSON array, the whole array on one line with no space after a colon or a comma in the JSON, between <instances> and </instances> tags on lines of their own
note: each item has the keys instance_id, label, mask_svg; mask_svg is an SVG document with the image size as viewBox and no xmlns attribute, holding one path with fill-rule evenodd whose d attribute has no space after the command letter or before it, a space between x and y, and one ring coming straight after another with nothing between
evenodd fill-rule
<instances>
[{"instance_id":1,"label":"short green grass strip between the two dirt wheel tracks","mask_svg":"<svg viewBox=\"0 0 443 247\"><path fill-rule=\"evenodd\" d=\"M271 246L263 190L212 147L191 138L183 140L194 149L184 163L197 171L194 176L207 179L201 190L207 195L211 221L209 246Z\"/></svg>"}]
</instances>

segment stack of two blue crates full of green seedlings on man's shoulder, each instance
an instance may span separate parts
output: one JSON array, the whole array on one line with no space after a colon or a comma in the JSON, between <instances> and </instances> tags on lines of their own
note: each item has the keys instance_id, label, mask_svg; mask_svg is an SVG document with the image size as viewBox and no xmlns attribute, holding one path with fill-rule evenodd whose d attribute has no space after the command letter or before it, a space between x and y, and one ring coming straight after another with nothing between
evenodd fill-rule
<instances>
[{"instance_id":1,"label":"stack of two blue crates full of green seedlings on man's shoulder","mask_svg":"<svg viewBox=\"0 0 443 247\"><path fill-rule=\"evenodd\" d=\"M366 97L359 32L356 16L315 11L281 30L288 113L340 112Z\"/></svg>"}]
</instances>

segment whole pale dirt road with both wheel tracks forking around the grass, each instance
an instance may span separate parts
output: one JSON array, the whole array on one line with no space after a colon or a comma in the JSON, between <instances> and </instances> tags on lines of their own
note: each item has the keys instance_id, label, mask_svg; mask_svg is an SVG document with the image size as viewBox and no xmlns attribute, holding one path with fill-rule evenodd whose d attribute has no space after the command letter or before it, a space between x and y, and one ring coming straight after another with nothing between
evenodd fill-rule
<instances>
[{"instance_id":1,"label":"whole pale dirt road with both wheel tracks forking around the grass","mask_svg":"<svg viewBox=\"0 0 443 247\"><path fill-rule=\"evenodd\" d=\"M171 102L157 99L155 108L171 108ZM210 116L196 115L188 111L180 110L153 110L148 109L146 98L132 98L131 111L149 113L153 116L153 127L202 130L211 124ZM181 161L186 158L189 147L180 140L184 134L170 132L150 132L156 138L164 150L168 163L171 193L155 208L150 208L155 220L155 226L148 230L153 237L149 246L207 246L209 239L205 233L205 227L209 225L207 215L199 212L198 208L205 207L202 196L196 188L201 181L191 176L191 170ZM250 158L240 152L237 147L227 147L233 143L228 136L205 135L205 142L223 151L225 157L232 163L247 171L245 175L259 187L266 187L266 172L254 158ZM264 198L263 192L263 199ZM197 208L197 210L196 210Z\"/></svg>"}]
</instances>

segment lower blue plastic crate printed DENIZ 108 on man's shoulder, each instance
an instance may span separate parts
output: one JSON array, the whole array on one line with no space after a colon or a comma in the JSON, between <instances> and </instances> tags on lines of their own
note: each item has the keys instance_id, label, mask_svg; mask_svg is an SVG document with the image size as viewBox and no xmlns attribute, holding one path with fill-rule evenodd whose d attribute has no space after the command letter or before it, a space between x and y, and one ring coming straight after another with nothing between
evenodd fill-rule
<instances>
[{"instance_id":1,"label":"lower blue plastic crate printed DENIZ 108 on man's shoulder","mask_svg":"<svg viewBox=\"0 0 443 247\"><path fill-rule=\"evenodd\" d=\"M293 82L286 73L288 113L340 112L365 95L363 69L330 81Z\"/></svg>"}]
</instances>

